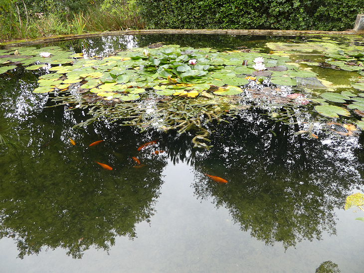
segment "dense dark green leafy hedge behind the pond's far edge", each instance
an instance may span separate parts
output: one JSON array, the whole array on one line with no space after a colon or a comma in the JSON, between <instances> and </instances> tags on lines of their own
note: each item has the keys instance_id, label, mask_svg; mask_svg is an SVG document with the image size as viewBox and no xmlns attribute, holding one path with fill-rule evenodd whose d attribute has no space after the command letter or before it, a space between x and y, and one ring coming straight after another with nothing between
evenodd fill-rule
<instances>
[{"instance_id":1,"label":"dense dark green leafy hedge behind the pond's far edge","mask_svg":"<svg viewBox=\"0 0 364 273\"><path fill-rule=\"evenodd\" d=\"M364 0L137 0L148 28L345 30Z\"/></svg>"}]
</instances>

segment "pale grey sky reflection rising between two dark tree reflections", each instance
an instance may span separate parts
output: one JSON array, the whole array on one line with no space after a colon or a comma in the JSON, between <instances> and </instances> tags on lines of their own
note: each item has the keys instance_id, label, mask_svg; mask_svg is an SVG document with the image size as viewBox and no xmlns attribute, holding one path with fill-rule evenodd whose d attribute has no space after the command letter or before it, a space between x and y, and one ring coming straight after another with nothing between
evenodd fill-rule
<instances>
[{"instance_id":1,"label":"pale grey sky reflection rising between two dark tree reflections","mask_svg":"<svg viewBox=\"0 0 364 273\"><path fill-rule=\"evenodd\" d=\"M16 259L12 239L0 244L3 272L315 272L331 260L342 272L361 272L363 222L352 211L336 210L337 236L304 241L287 251L266 246L234 225L225 208L193 196L193 173L184 163L165 169L165 183L150 225L137 225L137 238L117 238L109 251L90 249L74 260L65 251L41 252ZM344 255L345 254L345 255Z\"/></svg>"}]
</instances>

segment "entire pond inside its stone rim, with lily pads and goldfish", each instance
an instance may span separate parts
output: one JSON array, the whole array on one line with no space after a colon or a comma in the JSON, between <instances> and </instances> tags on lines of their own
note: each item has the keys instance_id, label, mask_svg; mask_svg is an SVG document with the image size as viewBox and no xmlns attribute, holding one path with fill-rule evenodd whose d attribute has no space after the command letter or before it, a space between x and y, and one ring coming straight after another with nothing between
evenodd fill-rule
<instances>
[{"instance_id":1,"label":"entire pond inside its stone rim, with lily pads and goldfish","mask_svg":"<svg viewBox=\"0 0 364 273\"><path fill-rule=\"evenodd\" d=\"M14 67L0 74L2 271L361 272L364 223L355 219L364 212L344 210L344 205L348 195L364 190L363 39L110 36L17 50L20 56L26 50L63 52L64 59L76 58L73 65L85 67L83 62L104 57L131 61L123 54L134 49L132 60L141 63L127 70L140 71L142 61L148 68L145 61L150 59L142 54L147 46L150 54L171 48L174 53L180 48L204 48L210 56L223 53L216 59L224 62L214 64L223 67L206 70L207 75L215 73L211 83L246 83L221 90L227 84L207 88L194 82L194 87L200 85L194 98L175 95L174 88L163 95L177 86L168 83L178 79L175 75L156 77L160 82L153 86L139 78L133 86L120 73L124 82L117 84L129 86L119 93L103 91L114 92L111 98L93 93L102 98L95 103L82 97L88 94L80 87L90 84L88 75L64 91L53 87L34 93L41 86L39 78L51 79L56 74L51 68L59 64L25 69L33 65L21 63L27 58L6 63ZM226 54L243 54L248 65L242 67L238 55ZM259 56L268 69L251 68ZM196 65L202 63L199 58ZM233 58L239 62L235 72L244 78L222 72L236 66ZM92 66L100 71L99 64ZM69 61L61 67L70 67ZM62 74L67 76L61 84L71 79L68 73ZM274 77L279 78L275 84ZM283 77L290 82L282 84ZM315 77L325 87L299 87L292 83L297 77ZM128 88L140 97L120 102ZM162 93L149 95L152 88ZM231 90L235 93L224 94ZM117 103L101 104L107 101ZM133 126L132 118L112 119L113 109L123 104L143 109L133 110L142 116L141 124ZM181 124L153 116L156 108L151 105L164 105L169 119L183 107L183 122L199 123L182 130ZM188 116L186 105L198 111L203 105L205 113ZM216 182L216 177L227 183Z\"/></svg>"}]
</instances>

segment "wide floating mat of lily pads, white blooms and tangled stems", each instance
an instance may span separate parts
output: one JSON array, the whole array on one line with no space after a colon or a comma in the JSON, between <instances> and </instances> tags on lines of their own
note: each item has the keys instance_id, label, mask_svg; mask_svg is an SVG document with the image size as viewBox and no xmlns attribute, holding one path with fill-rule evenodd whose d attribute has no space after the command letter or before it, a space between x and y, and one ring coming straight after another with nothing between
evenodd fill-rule
<instances>
[{"instance_id":1,"label":"wide floating mat of lily pads, white blooms and tangled stems","mask_svg":"<svg viewBox=\"0 0 364 273\"><path fill-rule=\"evenodd\" d=\"M317 80L318 73L306 67L313 63L301 64L291 59L298 50L316 54L320 49L323 56L335 57L335 62L339 62L331 63L330 68L361 75L363 56L360 53L353 49L344 51L328 41L308 48L283 43L267 43L267 46L273 49L269 54L245 49L218 52L211 48L159 45L114 52L103 58L66 53L57 47L19 48L16 55L6 50L0 52L5 54L6 61L6 66L0 69L21 64L28 65L29 70L49 71L39 77L39 87L34 93L54 92L52 100L57 105L68 105L69 110L88 109L92 118L79 123L80 127L107 119L141 131L177 129L182 134L193 129L196 147L208 147L208 123L223 122L224 116L253 107L264 108L277 121L285 120L287 111L294 110L295 116L300 115L299 108L302 115L310 113L312 119L316 118L315 112L327 119L347 117L364 129L364 120L353 115L364 111L364 93L355 90L360 90L360 80L340 90L340 94L333 86L324 93L317 89L308 91L302 82L298 84L298 79ZM49 57L36 56L37 51L45 50L51 53ZM323 63L321 66L328 67ZM349 70L348 66L353 69ZM321 81L327 83L320 80L317 81L326 88ZM297 121L290 119L289 122Z\"/></svg>"}]
</instances>

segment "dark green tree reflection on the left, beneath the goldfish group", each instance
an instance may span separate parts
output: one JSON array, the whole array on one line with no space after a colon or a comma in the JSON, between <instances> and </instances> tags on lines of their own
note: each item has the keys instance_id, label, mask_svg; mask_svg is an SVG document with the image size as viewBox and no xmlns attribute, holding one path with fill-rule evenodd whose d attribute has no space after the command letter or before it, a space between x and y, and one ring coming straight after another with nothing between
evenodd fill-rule
<instances>
[{"instance_id":1,"label":"dark green tree reflection on the left, beneath the goldfish group","mask_svg":"<svg viewBox=\"0 0 364 273\"><path fill-rule=\"evenodd\" d=\"M107 250L115 236L134 238L135 225L154 213L164 157L137 154L139 143L130 128L95 123L94 132L85 134L71 129L82 115L62 115L59 107L29 119L29 146L20 155L1 156L0 234L17 241L19 257L42 247L62 247L74 258L90 246ZM105 142L88 146L100 138ZM134 147L133 155L147 166L133 168L125 146Z\"/></svg>"}]
</instances>

